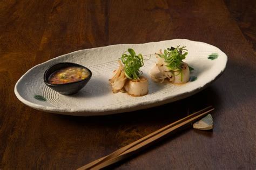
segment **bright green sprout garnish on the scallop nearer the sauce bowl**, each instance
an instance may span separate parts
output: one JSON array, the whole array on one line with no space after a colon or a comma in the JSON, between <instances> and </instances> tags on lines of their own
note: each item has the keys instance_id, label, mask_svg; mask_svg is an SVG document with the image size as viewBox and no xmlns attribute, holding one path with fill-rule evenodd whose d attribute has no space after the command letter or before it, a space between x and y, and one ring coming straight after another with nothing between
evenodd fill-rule
<instances>
[{"instance_id":1,"label":"bright green sprout garnish on the scallop nearer the sauce bowl","mask_svg":"<svg viewBox=\"0 0 256 170\"><path fill-rule=\"evenodd\" d=\"M130 54L126 54L125 52ZM142 71L139 70L140 67L144 65L142 54L136 55L133 49L128 49L125 51L121 57L122 63L124 64L125 76L129 79L139 79L142 76Z\"/></svg>"}]
</instances>

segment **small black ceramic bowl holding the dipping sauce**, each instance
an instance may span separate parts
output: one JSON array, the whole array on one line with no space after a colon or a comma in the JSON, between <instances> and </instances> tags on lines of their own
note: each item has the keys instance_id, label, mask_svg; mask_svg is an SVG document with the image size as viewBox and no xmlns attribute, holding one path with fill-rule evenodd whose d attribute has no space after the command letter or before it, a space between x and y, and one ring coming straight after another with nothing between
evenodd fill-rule
<instances>
[{"instance_id":1,"label":"small black ceramic bowl holding the dipping sauce","mask_svg":"<svg viewBox=\"0 0 256 170\"><path fill-rule=\"evenodd\" d=\"M89 76L83 80L80 81L75 81L71 83L65 83L65 84L51 84L49 83L49 77L51 74L57 70L64 69L66 67L70 66L78 66L78 67L83 67L89 72ZM75 64L75 63L57 63L52 66L50 66L45 72L44 72L44 83L49 86L52 90L55 90L59 92L60 94L64 95L70 95L70 94L75 94L79 90L81 90L91 79L92 77L92 72L91 70L87 69L86 67Z\"/></svg>"}]
</instances>

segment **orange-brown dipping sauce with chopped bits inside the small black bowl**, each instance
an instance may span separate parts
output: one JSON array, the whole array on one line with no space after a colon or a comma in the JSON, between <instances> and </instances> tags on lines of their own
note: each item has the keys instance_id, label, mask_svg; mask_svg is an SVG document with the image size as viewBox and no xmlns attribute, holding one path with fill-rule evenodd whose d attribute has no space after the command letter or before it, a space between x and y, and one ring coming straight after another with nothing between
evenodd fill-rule
<instances>
[{"instance_id":1,"label":"orange-brown dipping sauce with chopped bits inside the small black bowl","mask_svg":"<svg viewBox=\"0 0 256 170\"><path fill-rule=\"evenodd\" d=\"M49 77L49 83L64 84L80 81L87 78L89 74L89 71L87 71L83 67L66 67L64 69L60 69L58 71L53 72Z\"/></svg>"}]
</instances>

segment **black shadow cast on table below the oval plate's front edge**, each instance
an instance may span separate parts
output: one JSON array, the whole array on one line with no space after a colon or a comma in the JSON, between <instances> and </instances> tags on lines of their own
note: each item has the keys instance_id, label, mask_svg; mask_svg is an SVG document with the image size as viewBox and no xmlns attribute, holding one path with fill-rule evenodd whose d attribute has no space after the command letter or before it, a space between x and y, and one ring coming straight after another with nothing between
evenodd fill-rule
<instances>
[{"instance_id":1,"label":"black shadow cast on table below the oval plate's front edge","mask_svg":"<svg viewBox=\"0 0 256 170\"><path fill-rule=\"evenodd\" d=\"M209 98L209 96L211 97ZM138 125L157 126L157 128L160 128L210 105L218 109L220 102L218 91L213 86L210 86L186 99L145 110L93 117L74 117L57 114L54 116L62 121L67 121L69 124L81 127L104 128L105 126L123 128L125 126Z\"/></svg>"}]
</instances>

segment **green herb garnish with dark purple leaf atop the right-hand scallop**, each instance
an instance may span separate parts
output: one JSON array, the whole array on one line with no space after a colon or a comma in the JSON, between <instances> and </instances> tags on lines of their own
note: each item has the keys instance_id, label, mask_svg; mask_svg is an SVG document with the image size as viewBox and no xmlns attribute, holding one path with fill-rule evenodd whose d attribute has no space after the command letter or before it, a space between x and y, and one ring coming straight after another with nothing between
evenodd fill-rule
<instances>
[{"instance_id":1,"label":"green herb garnish with dark purple leaf atop the right-hand scallop","mask_svg":"<svg viewBox=\"0 0 256 170\"><path fill-rule=\"evenodd\" d=\"M182 60L186 58L186 55L188 54L187 49L185 49L186 46L180 47L177 46L176 48L171 47L167 50L164 50L164 53L157 54L159 57L164 58L164 62L167 64L166 67L170 69L171 71L181 71L181 64ZM185 53L183 53L185 52Z\"/></svg>"}]
</instances>

